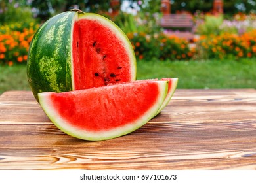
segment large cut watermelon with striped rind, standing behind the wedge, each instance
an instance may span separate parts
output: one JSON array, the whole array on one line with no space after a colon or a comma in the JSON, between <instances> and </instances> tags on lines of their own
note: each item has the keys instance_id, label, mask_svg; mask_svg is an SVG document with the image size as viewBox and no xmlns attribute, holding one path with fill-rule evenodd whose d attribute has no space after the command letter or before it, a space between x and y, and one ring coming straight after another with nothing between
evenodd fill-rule
<instances>
[{"instance_id":1,"label":"large cut watermelon with striped rind, standing behind the wedge","mask_svg":"<svg viewBox=\"0 0 256 183\"><path fill-rule=\"evenodd\" d=\"M33 95L68 92L136 79L136 59L112 21L80 10L50 18L35 33L27 76Z\"/></svg>"}]
</instances>

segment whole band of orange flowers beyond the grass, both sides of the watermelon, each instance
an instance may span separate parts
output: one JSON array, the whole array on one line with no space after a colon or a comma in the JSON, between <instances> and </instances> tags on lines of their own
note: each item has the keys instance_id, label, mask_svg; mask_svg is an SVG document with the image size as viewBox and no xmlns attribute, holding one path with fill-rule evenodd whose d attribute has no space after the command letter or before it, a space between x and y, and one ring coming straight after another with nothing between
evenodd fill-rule
<instances>
[{"instance_id":1,"label":"whole band of orange flowers beyond the grass, both sides of the watermelon","mask_svg":"<svg viewBox=\"0 0 256 183\"><path fill-rule=\"evenodd\" d=\"M26 63L30 41L38 24L9 24L0 26L0 65ZM221 33L202 35L190 46L185 39L144 32L128 33L137 60L189 60L256 58L256 29L243 34Z\"/></svg>"}]
</instances>

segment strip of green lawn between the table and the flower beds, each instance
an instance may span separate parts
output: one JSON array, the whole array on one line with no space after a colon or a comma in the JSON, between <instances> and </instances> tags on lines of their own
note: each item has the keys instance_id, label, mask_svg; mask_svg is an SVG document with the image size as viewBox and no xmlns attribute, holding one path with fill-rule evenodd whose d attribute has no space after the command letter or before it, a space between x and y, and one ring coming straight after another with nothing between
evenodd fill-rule
<instances>
[{"instance_id":1,"label":"strip of green lawn between the table and the flower beds","mask_svg":"<svg viewBox=\"0 0 256 183\"><path fill-rule=\"evenodd\" d=\"M137 61L137 79L177 77L177 88L256 88L256 59ZM0 66L0 94L30 90L26 65Z\"/></svg>"}]
</instances>

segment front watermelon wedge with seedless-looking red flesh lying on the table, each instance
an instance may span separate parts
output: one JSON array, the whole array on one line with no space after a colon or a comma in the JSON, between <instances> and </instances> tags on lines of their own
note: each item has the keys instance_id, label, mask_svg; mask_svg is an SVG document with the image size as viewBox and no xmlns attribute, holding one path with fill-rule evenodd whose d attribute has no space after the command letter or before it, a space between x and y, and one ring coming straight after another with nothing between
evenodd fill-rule
<instances>
[{"instance_id":1,"label":"front watermelon wedge with seedless-looking red flesh lying on the table","mask_svg":"<svg viewBox=\"0 0 256 183\"><path fill-rule=\"evenodd\" d=\"M127 82L71 92L39 93L39 103L62 131L90 141L131 133L156 116L168 82Z\"/></svg>"}]
</instances>

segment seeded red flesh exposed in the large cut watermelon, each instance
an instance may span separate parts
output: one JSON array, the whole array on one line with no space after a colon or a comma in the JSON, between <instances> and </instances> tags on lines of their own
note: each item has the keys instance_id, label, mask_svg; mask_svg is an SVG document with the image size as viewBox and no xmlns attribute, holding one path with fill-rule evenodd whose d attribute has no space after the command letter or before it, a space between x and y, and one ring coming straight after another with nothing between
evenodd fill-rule
<instances>
[{"instance_id":1,"label":"seeded red flesh exposed in the large cut watermelon","mask_svg":"<svg viewBox=\"0 0 256 183\"><path fill-rule=\"evenodd\" d=\"M74 90L130 82L136 76L131 63L134 56L124 44L125 37L104 18L79 14L74 21L72 40ZM126 40L127 41L127 40Z\"/></svg>"}]
</instances>

